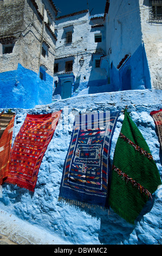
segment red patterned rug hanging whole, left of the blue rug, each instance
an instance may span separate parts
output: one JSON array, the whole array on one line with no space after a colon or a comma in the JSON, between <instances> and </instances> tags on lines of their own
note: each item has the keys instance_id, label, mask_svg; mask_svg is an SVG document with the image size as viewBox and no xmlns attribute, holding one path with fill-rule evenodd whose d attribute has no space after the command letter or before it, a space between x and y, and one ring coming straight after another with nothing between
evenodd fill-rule
<instances>
[{"instance_id":1,"label":"red patterned rug hanging whole, left of the blue rug","mask_svg":"<svg viewBox=\"0 0 162 256\"><path fill-rule=\"evenodd\" d=\"M61 112L27 114L11 149L5 182L34 191L43 155L53 137Z\"/></svg>"}]
</instances>

